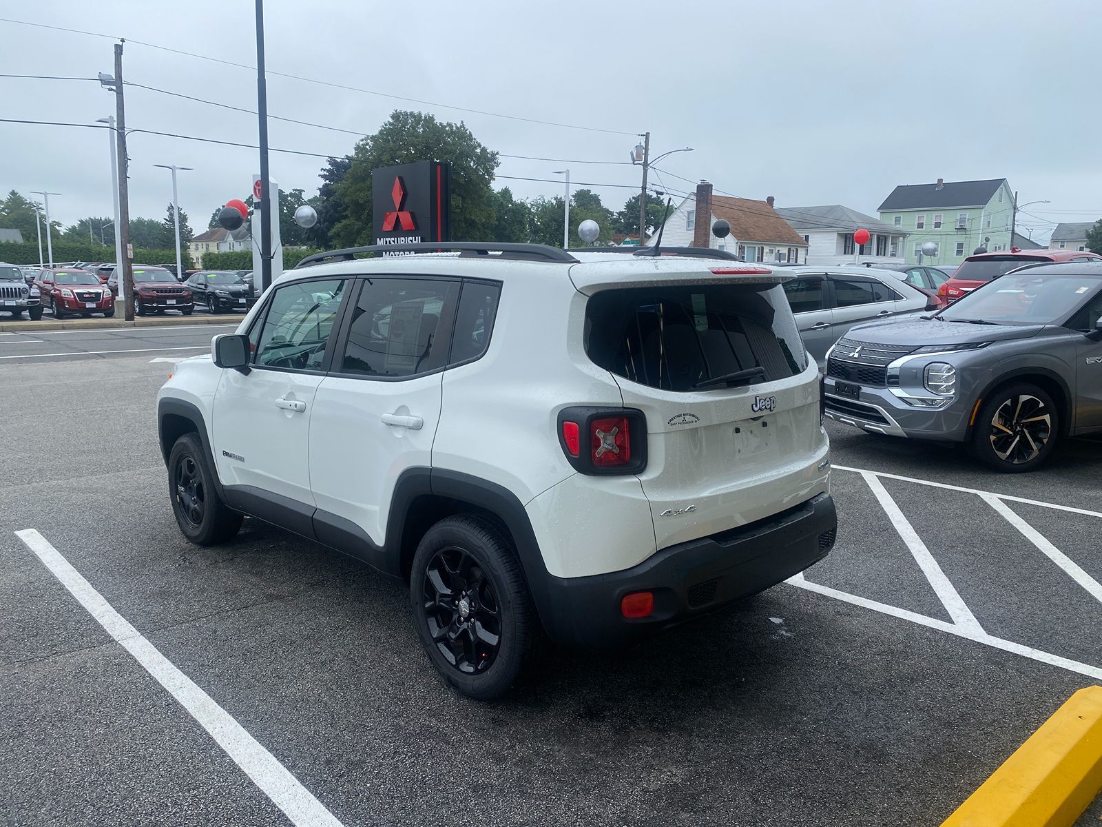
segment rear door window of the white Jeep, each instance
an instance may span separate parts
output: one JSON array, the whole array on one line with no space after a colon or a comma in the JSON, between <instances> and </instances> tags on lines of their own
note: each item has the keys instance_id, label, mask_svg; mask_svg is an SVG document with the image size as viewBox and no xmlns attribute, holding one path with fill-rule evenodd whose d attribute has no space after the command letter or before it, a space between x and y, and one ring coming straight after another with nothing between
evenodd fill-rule
<instances>
[{"instance_id":1,"label":"rear door window of the white Jeep","mask_svg":"<svg viewBox=\"0 0 1102 827\"><path fill-rule=\"evenodd\" d=\"M365 280L339 366L360 376L415 376L444 366L458 283Z\"/></svg>"}]
</instances>

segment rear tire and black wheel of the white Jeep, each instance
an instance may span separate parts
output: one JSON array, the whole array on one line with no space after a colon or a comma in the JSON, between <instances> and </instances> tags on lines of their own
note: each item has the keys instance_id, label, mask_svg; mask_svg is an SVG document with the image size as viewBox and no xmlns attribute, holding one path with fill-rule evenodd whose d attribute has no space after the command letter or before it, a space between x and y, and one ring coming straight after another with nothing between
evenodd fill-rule
<instances>
[{"instance_id":1,"label":"rear tire and black wheel of the white Jeep","mask_svg":"<svg viewBox=\"0 0 1102 827\"><path fill-rule=\"evenodd\" d=\"M533 656L539 619L528 584L488 520L458 515L428 530L413 556L410 602L433 667L468 698L501 696Z\"/></svg>"}]
</instances>

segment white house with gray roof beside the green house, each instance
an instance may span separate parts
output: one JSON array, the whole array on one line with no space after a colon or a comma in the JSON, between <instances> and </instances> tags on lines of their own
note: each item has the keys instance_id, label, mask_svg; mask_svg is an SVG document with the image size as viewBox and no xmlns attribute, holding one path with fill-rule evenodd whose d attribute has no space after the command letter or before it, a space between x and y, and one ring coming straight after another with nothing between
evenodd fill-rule
<instances>
[{"instance_id":1,"label":"white house with gray roof beside the green house","mask_svg":"<svg viewBox=\"0 0 1102 827\"><path fill-rule=\"evenodd\" d=\"M901 265L906 260L906 232L847 206L778 207L777 213L803 237L809 265ZM858 229L869 233L860 250L853 243Z\"/></svg>"}]
</instances>

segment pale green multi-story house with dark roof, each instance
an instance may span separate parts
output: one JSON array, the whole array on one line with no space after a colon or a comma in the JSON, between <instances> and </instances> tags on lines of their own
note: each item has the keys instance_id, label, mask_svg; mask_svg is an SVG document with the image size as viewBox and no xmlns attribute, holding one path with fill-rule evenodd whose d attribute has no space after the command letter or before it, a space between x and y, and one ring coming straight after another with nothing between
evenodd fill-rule
<instances>
[{"instance_id":1,"label":"pale green multi-story house with dark roof","mask_svg":"<svg viewBox=\"0 0 1102 827\"><path fill-rule=\"evenodd\" d=\"M901 184L879 206L882 222L910 234L904 248L908 264L959 265L976 247L1009 249L1013 213L1005 178ZM938 246L936 255L922 255L927 241Z\"/></svg>"}]
</instances>

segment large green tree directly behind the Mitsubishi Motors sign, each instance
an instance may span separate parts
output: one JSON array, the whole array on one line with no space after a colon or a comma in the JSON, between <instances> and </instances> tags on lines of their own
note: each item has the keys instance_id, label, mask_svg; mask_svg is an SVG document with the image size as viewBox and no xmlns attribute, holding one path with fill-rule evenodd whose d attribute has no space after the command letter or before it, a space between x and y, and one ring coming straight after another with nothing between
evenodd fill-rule
<instances>
[{"instance_id":1,"label":"large green tree directly behind the Mitsubishi Motors sign","mask_svg":"<svg viewBox=\"0 0 1102 827\"><path fill-rule=\"evenodd\" d=\"M423 112L396 110L378 132L356 143L352 165L336 187L346 212L329 234L331 244L352 247L374 240L372 170L431 160L452 164L452 238L486 238L497 218L490 187L497 152L479 143L462 122L441 122Z\"/></svg>"}]
</instances>

